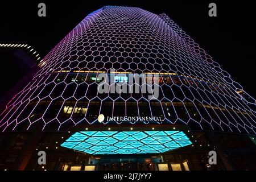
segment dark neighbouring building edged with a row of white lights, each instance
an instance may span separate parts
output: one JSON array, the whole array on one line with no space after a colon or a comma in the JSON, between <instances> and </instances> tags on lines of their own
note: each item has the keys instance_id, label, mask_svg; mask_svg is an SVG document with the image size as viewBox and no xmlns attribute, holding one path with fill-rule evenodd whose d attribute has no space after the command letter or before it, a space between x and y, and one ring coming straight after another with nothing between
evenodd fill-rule
<instances>
[{"instance_id":1,"label":"dark neighbouring building edged with a row of white lights","mask_svg":"<svg viewBox=\"0 0 256 182\"><path fill-rule=\"evenodd\" d=\"M28 44L0 43L0 57L3 61L0 77L0 110L5 109L8 102L27 85L38 71L39 53ZM12 75L14 79L11 78Z\"/></svg>"}]
</instances>

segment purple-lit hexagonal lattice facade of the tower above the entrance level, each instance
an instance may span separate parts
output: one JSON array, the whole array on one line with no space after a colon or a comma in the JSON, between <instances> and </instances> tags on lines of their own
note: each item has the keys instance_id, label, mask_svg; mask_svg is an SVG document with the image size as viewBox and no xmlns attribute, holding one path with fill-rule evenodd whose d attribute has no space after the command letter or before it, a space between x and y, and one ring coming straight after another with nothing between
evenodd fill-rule
<instances>
[{"instance_id":1,"label":"purple-lit hexagonal lattice facade of the tower above the entrance level","mask_svg":"<svg viewBox=\"0 0 256 182\"><path fill-rule=\"evenodd\" d=\"M165 14L103 7L86 16L39 65L1 114L1 130L64 130L93 124L103 113L256 133L255 100ZM158 74L158 99L99 94L97 75L112 68L126 75Z\"/></svg>"}]
</instances>

